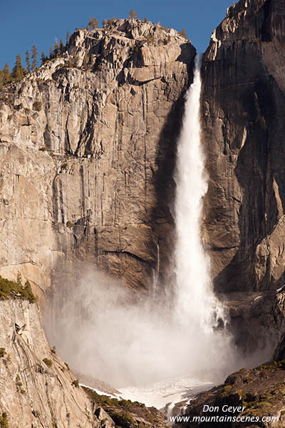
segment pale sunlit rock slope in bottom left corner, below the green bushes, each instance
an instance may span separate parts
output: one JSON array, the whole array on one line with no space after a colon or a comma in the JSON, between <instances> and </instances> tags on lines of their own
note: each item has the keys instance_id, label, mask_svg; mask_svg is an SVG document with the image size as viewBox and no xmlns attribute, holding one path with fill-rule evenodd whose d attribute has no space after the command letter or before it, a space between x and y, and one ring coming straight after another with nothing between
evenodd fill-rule
<instances>
[{"instance_id":1,"label":"pale sunlit rock slope in bottom left corner, below the green bushes","mask_svg":"<svg viewBox=\"0 0 285 428\"><path fill-rule=\"evenodd\" d=\"M115 427L48 346L38 305L0 301L0 325L1 427Z\"/></svg>"}]
</instances>

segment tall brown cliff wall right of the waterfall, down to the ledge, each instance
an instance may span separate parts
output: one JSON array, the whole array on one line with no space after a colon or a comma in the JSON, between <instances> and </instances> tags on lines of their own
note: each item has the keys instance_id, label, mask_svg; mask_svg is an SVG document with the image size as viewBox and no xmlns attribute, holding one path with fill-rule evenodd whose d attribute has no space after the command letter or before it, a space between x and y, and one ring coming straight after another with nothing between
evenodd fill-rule
<instances>
[{"instance_id":1,"label":"tall brown cliff wall right of the waterfall, down to the ledge","mask_svg":"<svg viewBox=\"0 0 285 428\"><path fill-rule=\"evenodd\" d=\"M284 19L283 1L241 0L204 55L204 236L223 292L284 284Z\"/></svg>"}]
</instances>

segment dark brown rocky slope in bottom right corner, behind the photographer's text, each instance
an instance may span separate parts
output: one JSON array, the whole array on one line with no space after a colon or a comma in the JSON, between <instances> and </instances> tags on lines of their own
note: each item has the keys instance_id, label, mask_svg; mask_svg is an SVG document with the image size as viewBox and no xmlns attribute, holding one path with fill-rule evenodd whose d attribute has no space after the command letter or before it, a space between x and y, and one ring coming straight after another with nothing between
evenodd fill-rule
<instances>
[{"instance_id":1,"label":"dark brown rocky slope in bottom right corner, behind the photographer's text","mask_svg":"<svg viewBox=\"0 0 285 428\"><path fill-rule=\"evenodd\" d=\"M282 428L285 423L285 360L230 374L224 384L181 402L191 422L174 427ZM201 418L201 419L198 419Z\"/></svg>"}]
</instances>

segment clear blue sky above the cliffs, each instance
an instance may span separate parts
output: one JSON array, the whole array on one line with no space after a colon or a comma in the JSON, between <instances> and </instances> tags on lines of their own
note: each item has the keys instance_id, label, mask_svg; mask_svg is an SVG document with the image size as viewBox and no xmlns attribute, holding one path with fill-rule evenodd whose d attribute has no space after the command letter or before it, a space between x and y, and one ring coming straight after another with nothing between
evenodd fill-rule
<instances>
[{"instance_id":1,"label":"clear blue sky above the cliffs","mask_svg":"<svg viewBox=\"0 0 285 428\"><path fill-rule=\"evenodd\" d=\"M140 19L146 16L178 31L185 28L197 51L204 52L231 5L232 0L0 0L0 68L6 62L12 68L16 54L24 65L32 44L39 56L41 51L48 54L55 37L65 43L66 31L72 34L76 27L86 26L90 17L99 23L112 16L126 18L132 8Z\"/></svg>"}]
</instances>

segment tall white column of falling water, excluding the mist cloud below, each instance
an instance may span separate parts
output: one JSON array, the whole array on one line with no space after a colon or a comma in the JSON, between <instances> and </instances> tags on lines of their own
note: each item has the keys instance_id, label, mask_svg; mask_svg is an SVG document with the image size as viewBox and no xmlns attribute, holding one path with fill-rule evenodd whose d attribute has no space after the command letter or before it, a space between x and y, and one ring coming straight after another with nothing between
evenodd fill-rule
<instances>
[{"instance_id":1,"label":"tall white column of falling water, excluding the mist cloud below","mask_svg":"<svg viewBox=\"0 0 285 428\"><path fill-rule=\"evenodd\" d=\"M176 312L180 322L191 319L192 330L211 330L222 309L212 291L209 260L200 235L203 196L207 192L200 128L201 56L195 57L194 81L186 94L185 116L177 142L175 171Z\"/></svg>"}]
</instances>

